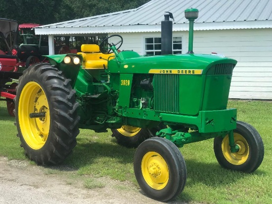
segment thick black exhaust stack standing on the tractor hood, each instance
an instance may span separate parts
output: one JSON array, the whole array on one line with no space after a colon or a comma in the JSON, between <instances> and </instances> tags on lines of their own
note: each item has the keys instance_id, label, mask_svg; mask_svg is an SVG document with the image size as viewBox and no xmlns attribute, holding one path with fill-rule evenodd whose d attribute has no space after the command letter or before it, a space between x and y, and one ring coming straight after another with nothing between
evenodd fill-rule
<instances>
[{"instance_id":1,"label":"thick black exhaust stack standing on the tractor hood","mask_svg":"<svg viewBox=\"0 0 272 204\"><path fill-rule=\"evenodd\" d=\"M173 31L173 22L169 20L172 18L174 20L173 14L170 12L166 12L164 14L164 21L162 21L162 32L161 32L161 39L162 39L162 55L164 54L173 54L172 44L172 31Z\"/></svg>"}]
</instances>

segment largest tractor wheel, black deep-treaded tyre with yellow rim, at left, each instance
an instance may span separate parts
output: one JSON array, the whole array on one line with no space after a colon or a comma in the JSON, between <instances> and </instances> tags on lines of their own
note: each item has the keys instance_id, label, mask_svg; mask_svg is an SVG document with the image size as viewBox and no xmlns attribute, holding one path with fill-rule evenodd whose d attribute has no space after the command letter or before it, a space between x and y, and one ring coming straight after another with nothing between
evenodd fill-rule
<instances>
[{"instance_id":1,"label":"largest tractor wheel, black deep-treaded tyre with yellow rim, at left","mask_svg":"<svg viewBox=\"0 0 272 204\"><path fill-rule=\"evenodd\" d=\"M70 80L54 66L35 64L23 72L16 92L16 125L25 154L38 164L61 163L79 133Z\"/></svg>"}]
</instances>

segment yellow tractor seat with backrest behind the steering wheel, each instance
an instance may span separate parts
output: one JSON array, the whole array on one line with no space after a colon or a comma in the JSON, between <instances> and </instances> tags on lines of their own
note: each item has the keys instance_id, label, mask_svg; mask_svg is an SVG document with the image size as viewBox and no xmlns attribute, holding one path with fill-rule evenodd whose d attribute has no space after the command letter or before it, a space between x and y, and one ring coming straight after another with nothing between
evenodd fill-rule
<instances>
[{"instance_id":1,"label":"yellow tractor seat with backrest behind the steering wheel","mask_svg":"<svg viewBox=\"0 0 272 204\"><path fill-rule=\"evenodd\" d=\"M103 65L107 68L107 61L104 59L108 59L109 56L114 55L113 53L101 53L97 44L83 44L81 45L81 51L82 52L78 52L77 54L83 57L83 69L104 69ZM104 59L100 59L99 57ZM110 59L113 58L114 57L111 57Z\"/></svg>"}]
</instances>

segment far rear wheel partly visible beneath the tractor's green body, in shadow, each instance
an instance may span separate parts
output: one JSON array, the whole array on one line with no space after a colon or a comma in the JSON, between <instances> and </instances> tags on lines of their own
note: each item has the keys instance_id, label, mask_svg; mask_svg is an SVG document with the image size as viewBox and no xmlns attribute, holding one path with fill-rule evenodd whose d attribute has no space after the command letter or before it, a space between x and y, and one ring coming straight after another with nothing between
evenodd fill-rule
<instances>
[{"instance_id":1,"label":"far rear wheel partly visible beneath the tractor's green body, in shadow","mask_svg":"<svg viewBox=\"0 0 272 204\"><path fill-rule=\"evenodd\" d=\"M117 139L118 144L123 145L125 147L137 147L144 140L156 136L156 132L164 127L153 128L140 128L134 127L130 125L123 125L119 129L111 129L112 137Z\"/></svg>"}]
</instances>

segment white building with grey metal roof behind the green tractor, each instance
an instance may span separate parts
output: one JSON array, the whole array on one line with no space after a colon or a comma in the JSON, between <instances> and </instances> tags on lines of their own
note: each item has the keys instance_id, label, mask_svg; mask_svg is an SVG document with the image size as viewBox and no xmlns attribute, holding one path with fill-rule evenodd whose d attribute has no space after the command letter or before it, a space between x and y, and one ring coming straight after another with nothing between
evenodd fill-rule
<instances>
[{"instance_id":1,"label":"white building with grey metal roof behind the green tractor","mask_svg":"<svg viewBox=\"0 0 272 204\"><path fill-rule=\"evenodd\" d=\"M141 55L160 53L161 21L173 13L173 51L188 50L186 8L197 8L194 52L217 52L238 61L229 98L272 99L272 0L151 0L131 10L91 16L35 28L49 36L119 34L121 49ZM53 54L53 51L51 51Z\"/></svg>"}]
</instances>

